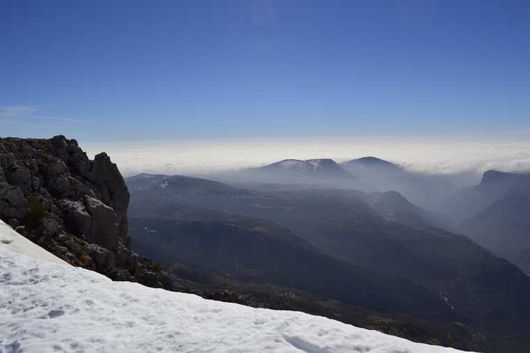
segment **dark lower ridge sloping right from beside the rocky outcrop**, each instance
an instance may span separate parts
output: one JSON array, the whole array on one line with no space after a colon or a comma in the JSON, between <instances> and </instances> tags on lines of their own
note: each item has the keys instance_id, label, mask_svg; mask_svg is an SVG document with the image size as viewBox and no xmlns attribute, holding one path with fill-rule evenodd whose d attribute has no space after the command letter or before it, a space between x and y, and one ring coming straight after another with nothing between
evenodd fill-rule
<instances>
[{"instance_id":1,"label":"dark lower ridge sloping right from beside the rocky outcrop","mask_svg":"<svg viewBox=\"0 0 530 353\"><path fill-rule=\"evenodd\" d=\"M197 213L183 206L142 205L131 214L158 219L131 218L131 231L137 243L157 248L169 261L229 273L235 280L304 290L381 313L459 317L437 292L324 255L274 223L220 212L212 217L212 211L207 220L197 220Z\"/></svg>"}]
</instances>

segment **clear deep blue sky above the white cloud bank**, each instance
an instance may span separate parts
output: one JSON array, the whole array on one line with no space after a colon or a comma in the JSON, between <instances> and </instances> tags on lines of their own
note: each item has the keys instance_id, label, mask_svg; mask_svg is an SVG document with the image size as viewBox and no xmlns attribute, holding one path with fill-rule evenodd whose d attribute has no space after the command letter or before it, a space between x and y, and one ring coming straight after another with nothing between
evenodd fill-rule
<instances>
[{"instance_id":1,"label":"clear deep blue sky above the white cloud bank","mask_svg":"<svg viewBox=\"0 0 530 353\"><path fill-rule=\"evenodd\" d=\"M530 1L1 1L0 107L84 141L530 131Z\"/></svg>"}]
</instances>

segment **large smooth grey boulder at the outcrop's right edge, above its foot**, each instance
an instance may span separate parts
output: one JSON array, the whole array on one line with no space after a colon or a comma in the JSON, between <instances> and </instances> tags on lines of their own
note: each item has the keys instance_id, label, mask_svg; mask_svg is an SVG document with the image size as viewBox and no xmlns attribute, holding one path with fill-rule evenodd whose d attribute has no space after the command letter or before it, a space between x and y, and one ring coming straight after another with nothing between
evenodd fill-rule
<instances>
[{"instance_id":1,"label":"large smooth grey boulder at the outcrop's right edge, above its foot","mask_svg":"<svg viewBox=\"0 0 530 353\"><path fill-rule=\"evenodd\" d=\"M100 200L85 195L86 211L92 217L90 232L96 244L112 250L119 239L119 227L114 210Z\"/></svg>"}]
</instances>

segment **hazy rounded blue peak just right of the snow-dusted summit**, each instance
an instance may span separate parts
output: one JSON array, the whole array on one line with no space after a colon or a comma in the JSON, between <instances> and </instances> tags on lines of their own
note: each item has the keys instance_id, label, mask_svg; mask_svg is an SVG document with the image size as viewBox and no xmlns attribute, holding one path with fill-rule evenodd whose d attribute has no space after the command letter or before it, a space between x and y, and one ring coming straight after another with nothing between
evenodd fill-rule
<instances>
[{"instance_id":1,"label":"hazy rounded blue peak just right of the snow-dusted summit","mask_svg":"<svg viewBox=\"0 0 530 353\"><path fill-rule=\"evenodd\" d=\"M341 163L358 179L381 192L396 191L407 200L426 209L434 209L454 188L440 175L408 172L402 167L375 157L364 157Z\"/></svg>"}]
</instances>

